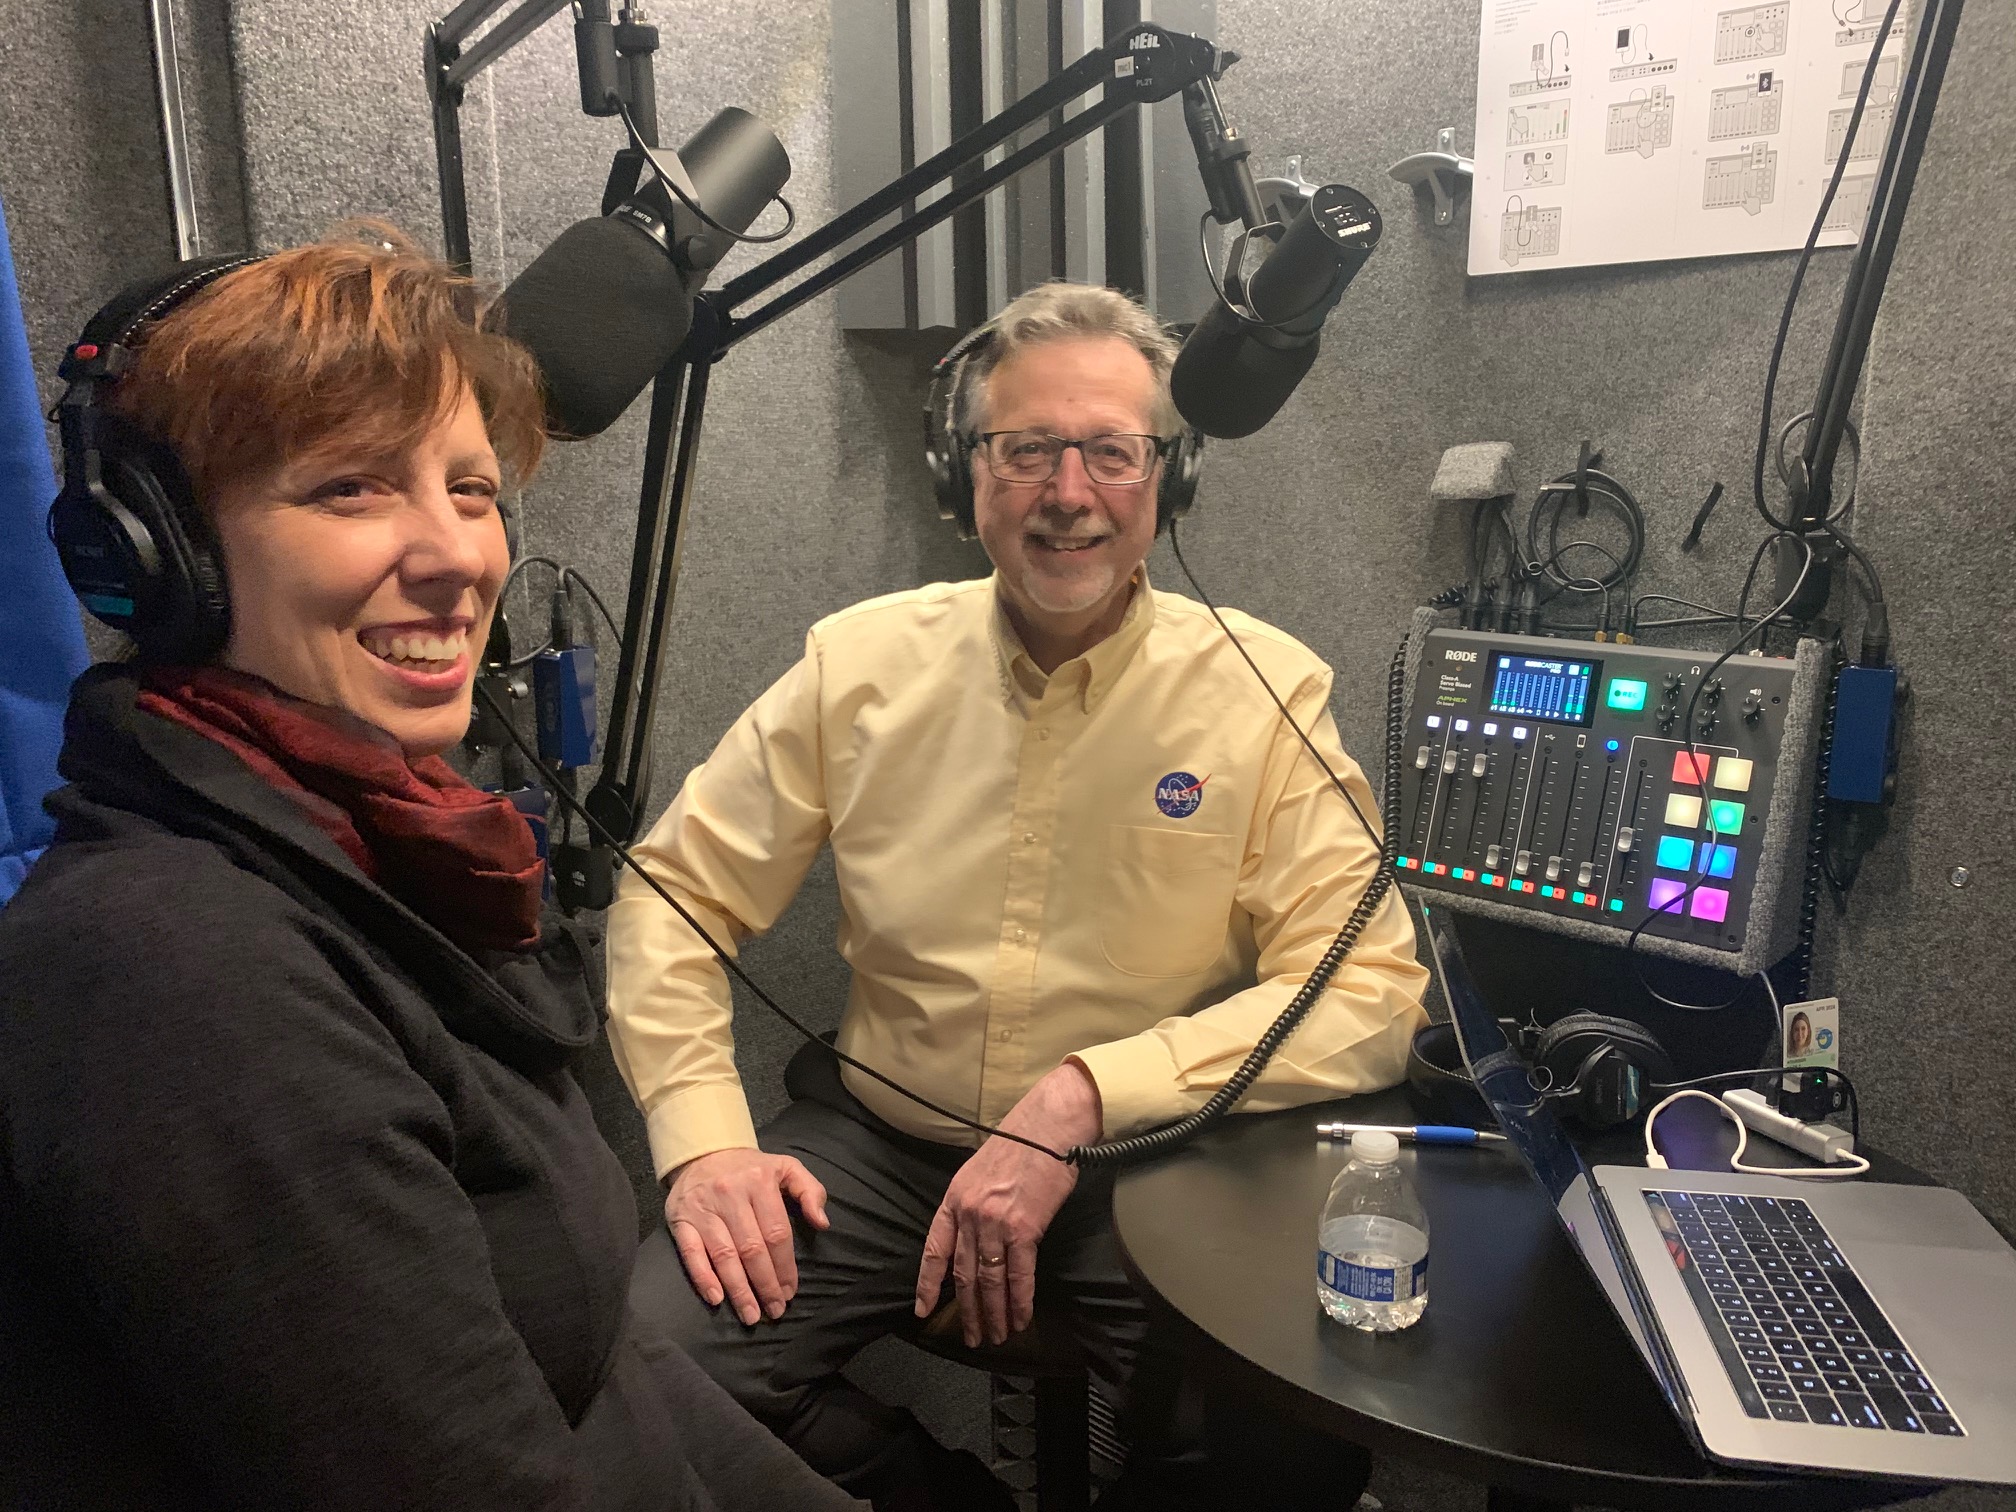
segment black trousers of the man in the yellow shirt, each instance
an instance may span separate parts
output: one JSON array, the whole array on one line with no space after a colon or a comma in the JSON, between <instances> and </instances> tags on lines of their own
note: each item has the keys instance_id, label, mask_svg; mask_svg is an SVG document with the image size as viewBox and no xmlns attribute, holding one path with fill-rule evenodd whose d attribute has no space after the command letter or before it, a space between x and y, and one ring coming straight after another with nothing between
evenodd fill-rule
<instances>
[{"instance_id":1,"label":"black trousers of the man in the yellow shirt","mask_svg":"<svg viewBox=\"0 0 2016 1512\"><path fill-rule=\"evenodd\" d=\"M798 1294L784 1316L746 1327L726 1304L706 1306L665 1232L647 1242L631 1298L814 1470L867 1496L895 1460L931 1445L907 1411L861 1391L841 1367L885 1335L915 1333L923 1236L972 1151L881 1123L825 1054L800 1056L788 1085L796 1101L758 1141L825 1183L833 1226L818 1232L794 1214ZM1365 1488L1363 1450L1204 1389L1173 1329L1151 1318L1121 1268L1109 1171L1087 1173L1044 1234L1036 1304L1068 1320L1121 1407L1131 1452L1109 1506L1349 1512Z\"/></svg>"}]
</instances>

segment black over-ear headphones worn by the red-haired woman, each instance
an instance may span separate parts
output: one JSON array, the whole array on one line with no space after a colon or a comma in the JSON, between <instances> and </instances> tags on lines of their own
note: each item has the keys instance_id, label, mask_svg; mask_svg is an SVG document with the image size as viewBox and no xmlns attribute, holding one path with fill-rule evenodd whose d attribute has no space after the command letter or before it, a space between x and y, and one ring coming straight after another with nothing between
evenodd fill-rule
<instances>
[{"instance_id":1,"label":"black over-ear headphones worn by the red-haired woman","mask_svg":"<svg viewBox=\"0 0 2016 1512\"><path fill-rule=\"evenodd\" d=\"M62 355L62 492L48 538L71 589L147 661L206 661L230 631L224 558L175 454L107 409L141 335L260 254L202 258L123 288Z\"/></svg>"}]
</instances>

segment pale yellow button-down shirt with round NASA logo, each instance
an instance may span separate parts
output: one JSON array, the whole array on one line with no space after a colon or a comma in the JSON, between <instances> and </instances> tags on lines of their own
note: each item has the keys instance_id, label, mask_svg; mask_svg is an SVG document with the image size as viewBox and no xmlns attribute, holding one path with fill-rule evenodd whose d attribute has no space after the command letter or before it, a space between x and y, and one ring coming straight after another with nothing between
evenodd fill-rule
<instances>
[{"instance_id":1,"label":"pale yellow button-down shirt with round NASA logo","mask_svg":"<svg viewBox=\"0 0 2016 1512\"><path fill-rule=\"evenodd\" d=\"M1226 619L1377 823L1327 710L1331 669ZM992 579L823 619L635 855L734 950L776 921L827 843L853 968L841 1048L984 1123L1075 1056L1107 1137L1224 1085L1377 863L1206 609L1145 581L1121 627L1050 675ZM1240 1107L1399 1081L1425 980L1389 895ZM756 1143L728 978L633 875L609 913L609 1028L659 1173ZM843 1075L897 1129L976 1141Z\"/></svg>"}]
</instances>

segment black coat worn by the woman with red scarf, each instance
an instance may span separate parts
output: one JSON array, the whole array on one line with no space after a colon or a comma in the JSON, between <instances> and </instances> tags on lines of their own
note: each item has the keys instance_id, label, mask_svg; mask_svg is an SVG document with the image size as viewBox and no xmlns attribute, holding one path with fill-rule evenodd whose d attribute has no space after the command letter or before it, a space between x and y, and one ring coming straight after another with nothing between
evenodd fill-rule
<instances>
[{"instance_id":1,"label":"black coat worn by the woman with red scarf","mask_svg":"<svg viewBox=\"0 0 2016 1512\"><path fill-rule=\"evenodd\" d=\"M639 1337L571 927L474 960L133 696L0 913L6 1504L849 1506Z\"/></svg>"}]
</instances>

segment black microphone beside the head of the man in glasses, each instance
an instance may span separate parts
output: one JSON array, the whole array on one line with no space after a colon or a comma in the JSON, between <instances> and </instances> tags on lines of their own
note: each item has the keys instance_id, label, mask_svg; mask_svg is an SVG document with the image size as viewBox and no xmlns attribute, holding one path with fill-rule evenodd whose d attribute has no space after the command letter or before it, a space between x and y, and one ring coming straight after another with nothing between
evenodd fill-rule
<instances>
[{"instance_id":1,"label":"black microphone beside the head of the man in glasses","mask_svg":"<svg viewBox=\"0 0 2016 1512\"><path fill-rule=\"evenodd\" d=\"M1322 323L1379 246L1379 212L1325 183L1246 280L1246 308L1224 292L1183 341L1169 375L1175 407L1206 435L1236 439L1274 419L1316 361ZM1226 282L1232 284L1234 274Z\"/></svg>"}]
</instances>

